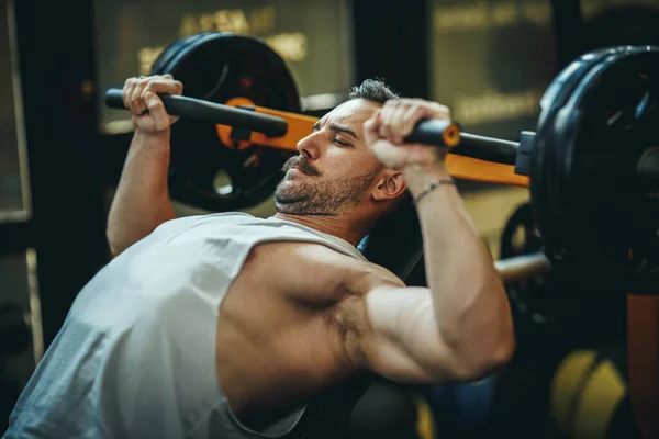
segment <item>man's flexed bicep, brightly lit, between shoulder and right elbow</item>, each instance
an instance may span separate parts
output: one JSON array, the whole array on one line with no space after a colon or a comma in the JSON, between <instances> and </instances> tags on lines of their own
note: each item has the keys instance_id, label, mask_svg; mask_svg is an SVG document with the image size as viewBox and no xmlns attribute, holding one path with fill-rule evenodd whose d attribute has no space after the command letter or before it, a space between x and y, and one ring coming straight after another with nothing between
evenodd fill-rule
<instances>
[{"instance_id":1,"label":"man's flexed bicep, brightly lit, between shoulder and right elbow","mask_svg":"<svg viewBox=\"0 0 659 439\"><path fill-rule=\"evenodd\" d=\"M364 333L360 349L370 369L399 382L456 378L456 358L437 328L428 289L381 286L364 303L370 330Z\"/></svg>"}]
</instances>

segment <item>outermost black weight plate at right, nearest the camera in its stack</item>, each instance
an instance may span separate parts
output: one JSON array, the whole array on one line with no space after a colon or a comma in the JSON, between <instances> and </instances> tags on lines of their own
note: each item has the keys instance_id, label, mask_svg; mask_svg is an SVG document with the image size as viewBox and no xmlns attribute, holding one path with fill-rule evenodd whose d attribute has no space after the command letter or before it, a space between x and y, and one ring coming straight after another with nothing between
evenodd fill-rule
<instances>
[{"instance_id":1,"label":"outermost black weight plate at right, nearest the camera in its stack","mask_svg":"<svg viewBox=\"0 0 659 439\"><path fill-rule=\"evenodd\" d=\"M567 207L587 233L570 243L568 255L610 286L659 293L659 199L636 177L641 154L659 145L659 48L611 59L582 82L574 117L565 120L565 176L578 189Z\"/></svg>"}]
</instances>

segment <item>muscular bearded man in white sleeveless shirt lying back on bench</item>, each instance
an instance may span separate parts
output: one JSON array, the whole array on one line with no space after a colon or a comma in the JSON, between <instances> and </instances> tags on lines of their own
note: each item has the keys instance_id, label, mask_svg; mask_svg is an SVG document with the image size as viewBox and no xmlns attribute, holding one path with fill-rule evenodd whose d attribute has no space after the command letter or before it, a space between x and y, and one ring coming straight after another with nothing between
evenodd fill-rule
<instances>
[{"instance_id":1,"label":"muscular bearded man in white sleeveless shirt lying back on bench","mask_svg":"<svg viewBox=\"0 0 659 439\"><path fill-rule=\"evenodd\" d=\"M299 142L273 217L176 219L175 119L157 94L181 91L169 76L126 81L135 134L109 217L116 258L74 303L7 437L280 437L305 402L364 371L442 383L510 359L502 282L438 149L401 144L448 109L365 81ZM428 288L355 247L410 195Z\"/></svg>"}]
</instances>

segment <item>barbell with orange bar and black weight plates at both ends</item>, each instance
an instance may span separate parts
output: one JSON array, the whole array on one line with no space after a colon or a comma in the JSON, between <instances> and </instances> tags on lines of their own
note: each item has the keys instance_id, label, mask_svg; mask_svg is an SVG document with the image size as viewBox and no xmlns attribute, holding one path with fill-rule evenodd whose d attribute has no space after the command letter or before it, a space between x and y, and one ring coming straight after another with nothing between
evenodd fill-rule
<instances>
[{"instance_id":1,"label":"barbell with orange bar and black weight plates at both ends","mask_svg":"<svg viewBox=\"0 0 659 439\"><path fill-rule=\"evenodd\" d=\"M253 37L183 38L164 50L152 74L186 85L186 95L161 97L182 117L172 130L171 195L208 210L269 196L281 165L316 121L299 114L283 60ZM512 268L500 262L507 272L551 266L591 290L659 293L658 95L659 48L604 48L556 77L536 132L523 132L520 142L461 133L447 121L424 121L405 140L447 147L455 178L530 188L543 252ZM108 90L105 103L124 108L121 90ZM231 177L228 189L214 184L219 169Z\"/></svg>"}]
</instances>

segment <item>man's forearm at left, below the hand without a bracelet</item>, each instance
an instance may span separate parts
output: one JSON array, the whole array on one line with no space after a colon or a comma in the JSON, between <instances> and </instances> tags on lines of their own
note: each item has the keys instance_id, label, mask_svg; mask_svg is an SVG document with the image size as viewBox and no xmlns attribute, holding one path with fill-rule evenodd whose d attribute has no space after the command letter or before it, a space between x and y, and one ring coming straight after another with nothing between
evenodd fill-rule
<instances>
[{"instance_id":1,"label":"man's forearm at left, below the hand without a bracelet","mask_svg":"<svg viewBox=\"0 0 659 439\"><path fill-rule=\"evenodd\" d=\"M175 218L169 200L169 133L133 136L119 187L110 207L108 240L113 255Z\"/></svg>"}]
</instances>

